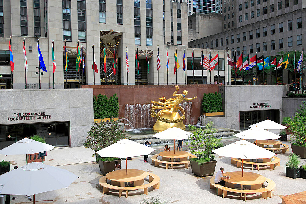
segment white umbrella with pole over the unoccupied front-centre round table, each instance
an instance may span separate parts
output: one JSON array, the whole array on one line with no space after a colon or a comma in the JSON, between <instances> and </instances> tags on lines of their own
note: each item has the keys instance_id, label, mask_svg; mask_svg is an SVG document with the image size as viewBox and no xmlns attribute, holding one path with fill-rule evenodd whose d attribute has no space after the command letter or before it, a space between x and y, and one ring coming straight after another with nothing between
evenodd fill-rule
<instances>
[{"instance_id":1,"label":"white umbrella with pole over the unoccupied front-centre round table","mask_svg":"<svg viewBox=\"0 0 306 204\"><path fill-rule=\"evenodd\" d=\"M119 157L125 158L126 174L128 174L127 157L137 157L141 155L148 155L155 149L146 145L134 142L129 139L122 139L102 150L97 151L101 157Z\"/></svg>"}]
</instances>

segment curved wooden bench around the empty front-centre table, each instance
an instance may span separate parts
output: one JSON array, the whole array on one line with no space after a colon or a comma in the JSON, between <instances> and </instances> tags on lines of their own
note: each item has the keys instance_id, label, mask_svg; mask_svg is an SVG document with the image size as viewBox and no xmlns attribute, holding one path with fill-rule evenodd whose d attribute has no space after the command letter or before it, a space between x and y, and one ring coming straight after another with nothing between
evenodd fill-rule
<instances>
[{"instance_id":1,"label":"curved wooden bench around the empty front-centre table","mask_svg":"<svg viewBox=\"0 0 306 204\"><path fill-rule=\"evenodd\" d=\"M144 194L148 195L148 188L153 186L153 188L159 188L160 178L156 174L148 172L149 183L141 186L123 187L123 186L113 186L107 183L106 176L99 179L100 186L103 187L103 194L108 192L108 189L119 190L119 198L122 195L122 191L126 191L125 197L128 197L128 190L138 190L144 189Z\"/></svg>"}]
</instances>

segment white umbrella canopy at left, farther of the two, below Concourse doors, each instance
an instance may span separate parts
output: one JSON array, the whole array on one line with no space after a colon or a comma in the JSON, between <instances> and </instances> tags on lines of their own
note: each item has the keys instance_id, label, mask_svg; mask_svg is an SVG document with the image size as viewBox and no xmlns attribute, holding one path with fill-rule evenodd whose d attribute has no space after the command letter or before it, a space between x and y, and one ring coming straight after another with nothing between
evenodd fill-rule
<instances>
[{"instance_id":1,"label":"white umbrella canopy at left, farther of the two, below Concourse doors","mask_svg":"<svg viewBox=\"0 0 306 204\"><path fill-rule=\"evenodd\" d=\"M0 150L0 154L15 155L15 154L34 154L38 152L50 151L54 146L46 143L41 143L33 139L24 138L8 147Z\"/></svg>"}]
</instances>

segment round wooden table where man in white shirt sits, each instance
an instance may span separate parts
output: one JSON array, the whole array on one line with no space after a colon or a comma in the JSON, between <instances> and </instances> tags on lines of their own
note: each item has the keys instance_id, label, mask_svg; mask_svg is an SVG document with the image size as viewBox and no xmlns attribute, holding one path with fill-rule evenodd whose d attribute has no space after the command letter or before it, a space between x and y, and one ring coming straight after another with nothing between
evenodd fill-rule
<instances>
[{"instance_id":1,"label":"round wooden table where man in white shirt sits","mask_svg":"<svg viewBox=\"0 0 306 204\"><path fill-rule=\"evenodd\" d=\"M226 187L230 188L234 188L234 184L238 184L241 185L241 189L243 189L244 185L251 185L251 190L260 189L266 181L266 177L253 172L243 172L243 177L241 171L226 172L224 174L231 177L224 180Z\"/></svg>"}]
</instances>

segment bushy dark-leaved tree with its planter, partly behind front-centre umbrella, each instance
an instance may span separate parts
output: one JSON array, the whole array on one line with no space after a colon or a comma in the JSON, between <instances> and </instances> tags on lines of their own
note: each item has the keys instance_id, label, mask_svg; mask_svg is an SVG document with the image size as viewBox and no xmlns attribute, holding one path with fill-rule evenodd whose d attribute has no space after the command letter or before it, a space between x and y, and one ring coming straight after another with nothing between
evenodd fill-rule
<instances>
[{"instance_id":1,"label":"bushy dark-leaved tree with its planter, partly behind front-centre umbrella","mask_svg":"<svg viewBox=\"0 0 306 204\"><path fill-rule=\"evenodd\" d=\"M113 171L115 161L121 164L121 159L101 158L96 152L125 138L123 130L118 126L120 122L120 120L114 121L114 118L110 118L108 123L94 122L94 125L91 126L87 133L84 146L95 151L92 156L96 156L96 162L99 163L100 171L104 175Z\"/></svg>"}]
</instances>

